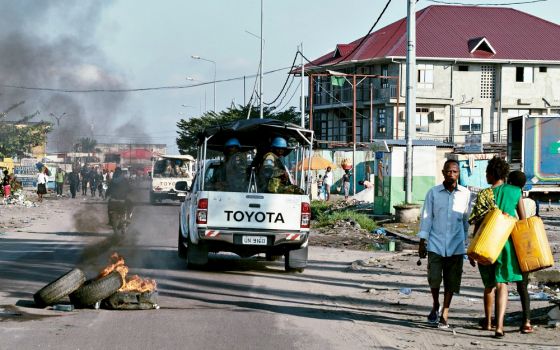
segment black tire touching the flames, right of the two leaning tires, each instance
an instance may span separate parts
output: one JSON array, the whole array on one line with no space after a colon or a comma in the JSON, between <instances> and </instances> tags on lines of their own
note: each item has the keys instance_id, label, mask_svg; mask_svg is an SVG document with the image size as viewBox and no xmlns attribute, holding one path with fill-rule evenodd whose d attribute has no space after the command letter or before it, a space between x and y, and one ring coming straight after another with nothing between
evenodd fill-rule
<instances>
[{"instance_id":1,"label":"black tire touching the flames, right of the two leaning tires","mask_svg":"<svg viewBox=\"0 0 560 350\"><path fill-rule=\"evenodd\" d=\"M70 294L70 300L76 306L90 306L113 295L123 285L121 275L113 271L105 277L89 280Z\"/></svg>"}]
</instances>

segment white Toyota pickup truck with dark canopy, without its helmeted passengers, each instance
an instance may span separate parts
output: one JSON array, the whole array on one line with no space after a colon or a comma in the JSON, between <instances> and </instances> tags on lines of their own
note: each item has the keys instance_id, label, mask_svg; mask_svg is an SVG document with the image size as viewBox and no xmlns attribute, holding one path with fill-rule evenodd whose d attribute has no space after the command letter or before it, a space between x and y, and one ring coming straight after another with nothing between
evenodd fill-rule
<instances>
[{"instance_id":1,"label":"white Toyota pickup truck with dark canopy, without its helmeted passengers","mask_svg":"<svg viewBox=\"0 0 560 350\"><path fill-rule=\"evenodd\" d=\"M241 141L244 157L249 155L249 161L251 154L258 159L256 150L276 135L288 139L290 145L303 144L308 152L313 142L311 130L278 120L249 119L207 131L200 141L201 161L195 179L181 205L179 256L192 266L206 264L209 252L233 252L241 257L265 253L268 260L283 255L286 271L302 272L307 266L309 195L295 184L289 185L296 189L291 193L259 189L258 182L251 181L256 179L255 167L248 167L247 178L239 179L247 185L246 190L217 189L213 179L224 161L204 160L205 155L208 149L223 150L224 140L232 135ZM299 151L294 149L291 158L295 161L304 153L303 147ZM305 174L296 175L301 188L307 188ZM186 185L178 183L176 190L185 191Z\"/></svg>"}]
</instances>

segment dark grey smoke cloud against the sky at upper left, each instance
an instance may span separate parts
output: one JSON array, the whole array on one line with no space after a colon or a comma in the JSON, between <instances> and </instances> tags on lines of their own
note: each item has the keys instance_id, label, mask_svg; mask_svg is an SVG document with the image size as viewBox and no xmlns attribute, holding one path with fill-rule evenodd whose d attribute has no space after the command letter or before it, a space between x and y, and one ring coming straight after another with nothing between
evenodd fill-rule
<instances>
[{"instance_id":1,"label":"dark grey smoke cloud against the sky at upper left","mask_svg":"<svg viewBox=\"0 0 560 350\"><path fill-rule=\"evenodd\" d=\"M61 89L123 89L95 45L95 29L112 1L5 1L0 21L0 77L7 85ZM69 151L81 137L146 136L137 118L119 118L126 93L58 93L0 87L0 111L25 101L7 120L39 111L31 121L49 121L49 151ZM59 117L57 122L50 114ZM127 125L134 125L133 129ZM118 129L118 131L117 131ZM105 139L106 140L106 139ZM104 142L104 140L98 140ZM146 139L144 139L146 141Z\"/></svg>"}]
</instances>

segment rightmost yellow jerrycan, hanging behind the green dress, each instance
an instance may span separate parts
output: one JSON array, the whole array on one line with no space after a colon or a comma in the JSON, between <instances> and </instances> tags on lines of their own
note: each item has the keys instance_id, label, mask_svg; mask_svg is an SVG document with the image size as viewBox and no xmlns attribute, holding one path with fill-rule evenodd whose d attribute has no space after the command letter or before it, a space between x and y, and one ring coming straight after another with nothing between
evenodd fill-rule
<instances>
[{"instance_id":1,"label":"rightmost yellow jerrycan, hanging behind the green dress","mask_svg":"<svg viewBox=\"0 0 560 350\"><path fill-rule=\"evenodd\" d=\"M511 232L515 254L523 272L533 272L554 265L544 224L538 216L519 220Z\"/></svg>"}]
</instances>

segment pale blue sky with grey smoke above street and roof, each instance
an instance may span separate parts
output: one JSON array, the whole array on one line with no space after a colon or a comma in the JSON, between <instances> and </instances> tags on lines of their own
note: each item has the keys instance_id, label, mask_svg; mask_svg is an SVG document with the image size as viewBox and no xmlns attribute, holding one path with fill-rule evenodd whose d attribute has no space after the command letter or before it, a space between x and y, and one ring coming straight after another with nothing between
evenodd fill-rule
<instances>
[{"instance_id":1,"label":"pale blue sky with grey smoke above street and roof","mask_svg":"<svg viewBox=\"0 0 560 350\"><path fill-rule=\"evenodd\" d=\"M386 4L386 0L262 2L263 71L284 68L265 74L265 102L280 93L298 45L303 43L309 59L317 58L338 43L365 35ZM405 17L406 4L406 0L392 0L376 29ZM98 142L167 144L168 153L177 153L177 121L214 108L214 67L218 111L243 104L255 86L260 0L0 0L0 5L4 13L0 23L0 111L24 101L10 112L10 118L39 111L34 120L54 121L51 151L69 148L80 137L93 137ZM435 2L420 0L416 4L417 10L430 5ZM560 23L558 0L507 7ZM219 82L231 78L239 79ZM298 84L299 80L294 81L282 102L273 105L299 109ZM182 88L89 93L21 89L167 86Z\"/></svg>"}]
</instances>

